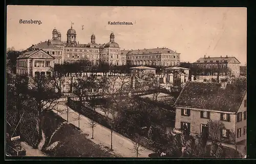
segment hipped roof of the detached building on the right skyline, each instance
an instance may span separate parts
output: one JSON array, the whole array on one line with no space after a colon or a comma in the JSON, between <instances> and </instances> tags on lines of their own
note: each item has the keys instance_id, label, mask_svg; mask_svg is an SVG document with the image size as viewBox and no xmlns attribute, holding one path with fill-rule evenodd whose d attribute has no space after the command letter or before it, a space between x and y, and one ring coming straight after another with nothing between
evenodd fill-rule
<instances>
[{"instance_id":1,"label":"hipped roof of the detached building on the right skyline","mask_svg":"<svg viewBox=\"0 0 256 164\"><path fill-rule=\"evenodd\" d=\"M206 62L205 62L206 61ZM237 63L240 61L236 57L205 57L199 58L195 63Z\"/></svg>"}]
</instances>

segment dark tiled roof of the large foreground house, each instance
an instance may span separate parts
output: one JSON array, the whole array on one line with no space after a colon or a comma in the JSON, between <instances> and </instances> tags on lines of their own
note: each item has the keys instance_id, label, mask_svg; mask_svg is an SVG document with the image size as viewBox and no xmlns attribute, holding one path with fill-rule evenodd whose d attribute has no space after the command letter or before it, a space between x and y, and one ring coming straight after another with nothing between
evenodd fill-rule
<instances>
[{"instance_id":1,"label":"dark tiled roof of the large foreground house","mask_svg":"<svg viewBox=\"0 0 256 164\"><path fill-rule=\"evenodd\" d=\"M221 83L187 82L175 102L177 107L237 112L246 90L232 84L221 88Z\"/></svg>"}]
</instances>

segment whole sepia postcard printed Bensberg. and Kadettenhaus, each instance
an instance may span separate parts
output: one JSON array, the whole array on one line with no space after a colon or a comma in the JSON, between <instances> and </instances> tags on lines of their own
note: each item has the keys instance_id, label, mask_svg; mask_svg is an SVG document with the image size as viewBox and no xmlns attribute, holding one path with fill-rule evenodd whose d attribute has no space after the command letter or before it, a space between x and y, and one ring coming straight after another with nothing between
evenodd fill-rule
<instances>
[{"instance_id":1,"label":"whole sepia postcard printed Bensberg. and Kadettenhaus","mask_svg":"<svg viewBox=\"0 0 256 164\"><path fill-rule=\"evenodd\" d=\"M246 8L9 5L6 41L6 156L246 158Z\"/></svg>"}]
</instances>

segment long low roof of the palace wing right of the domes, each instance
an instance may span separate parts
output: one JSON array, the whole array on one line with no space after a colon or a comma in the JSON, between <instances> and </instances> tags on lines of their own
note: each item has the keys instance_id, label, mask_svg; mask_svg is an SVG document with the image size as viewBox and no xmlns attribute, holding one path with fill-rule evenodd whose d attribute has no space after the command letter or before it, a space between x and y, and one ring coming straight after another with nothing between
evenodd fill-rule
<instances>
[{"instance_id":1,"label":"long low roof of the palace wing right of the domes","mask_svg":"<svg viewBox=\"0 0 256 164\"><path fill-rule=\"evenodd\" d=\"M142 55L142 54L175 54L179 55L173 50L167 48L157 48L157 49L143 49L143 50L131 50L127 55Z\"/></svg>"}]
</instances>

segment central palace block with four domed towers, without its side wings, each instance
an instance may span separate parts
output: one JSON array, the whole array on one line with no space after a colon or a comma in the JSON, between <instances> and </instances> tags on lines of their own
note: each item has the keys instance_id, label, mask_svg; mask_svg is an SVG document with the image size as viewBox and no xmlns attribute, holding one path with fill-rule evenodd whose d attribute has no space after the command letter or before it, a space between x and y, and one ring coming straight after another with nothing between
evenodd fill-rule
<instances>
[{"instance_id":1,"label":"central palace block with four domed towers, without its side wings","mask_svg":"<svg viewBox=\"0 0 256 164\"><path fill-rule=\"evenodd\" d=\"M110 41L105 44L97 44L94 34L91 36L91 42L88 44L77 43L76 31L71 28L67 31L67 41L61 41L61 34L56 29L52 31L52 39L46 42L38 43L33 47L35 50L42 49L49 55L55 57L54 63L63 62L73 63L77 60L90 60L92 65L98 65L99 61L110 65L125 64L120 57L119 44L115 42L115 35L110 34Z\"/></svg>"}]
</instances>

